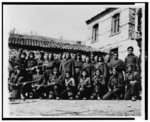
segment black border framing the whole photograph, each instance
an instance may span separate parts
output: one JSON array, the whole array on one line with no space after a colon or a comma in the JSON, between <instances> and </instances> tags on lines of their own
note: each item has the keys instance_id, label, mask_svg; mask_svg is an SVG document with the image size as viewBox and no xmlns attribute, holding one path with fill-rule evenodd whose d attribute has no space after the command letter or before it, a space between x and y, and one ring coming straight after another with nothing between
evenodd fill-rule
<instances>
[{"instance_id":1,"label":"black border framing the whole photograph","mask_svg":"<svg viewBox=\"0 0 150 122\"><path fill-rule=\"evenodd\" d=\"M147 60L145 60L145 120L148 120L148 2L2 2L2 120L135 120L134 117L120 118L103 118L103 117L44 117L44 118L4 118L3 116L3 6L4 5L134 5L135 3L145 3L145 52L147 52Z\"/></svg>"}]
</instances>

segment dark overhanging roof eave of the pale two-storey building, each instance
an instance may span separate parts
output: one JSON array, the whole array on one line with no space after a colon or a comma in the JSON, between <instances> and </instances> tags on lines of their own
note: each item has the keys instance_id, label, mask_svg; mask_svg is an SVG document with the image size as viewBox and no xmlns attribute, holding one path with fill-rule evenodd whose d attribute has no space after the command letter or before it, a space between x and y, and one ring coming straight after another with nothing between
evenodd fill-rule
<instances>
[{"instance_id":1,"label":"dark overhanging roof eave of the pale two-storey building","mask_svg":"<svg viewBox=\"0 0 150 122\"><path fill-rule=\"evenodd\" d=\"M106 14L108 14L108 13L110 13L110 12L116 10L116 9L118 9L118 8L106 8L101 13L99 13L99 14L95 15L94 17L88 19L86 21L86 24L90 24L90 23L94 22L95 20L100 19L101 17L105 16Z\"/></svg>"}]
</instances>

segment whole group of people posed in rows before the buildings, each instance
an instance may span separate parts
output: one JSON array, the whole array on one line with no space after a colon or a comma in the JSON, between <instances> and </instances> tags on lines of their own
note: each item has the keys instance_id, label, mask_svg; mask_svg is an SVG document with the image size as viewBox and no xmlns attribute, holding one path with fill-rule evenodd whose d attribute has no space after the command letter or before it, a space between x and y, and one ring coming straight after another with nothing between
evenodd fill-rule
<instances>
[{"instance_id":1,"label":"whole group of people posed in rows before the buildings","mask_svg":"<svg viewBox=\"0 0 150 122\"><path fill-rule=\"evenodd\" d=\"M9 58L10 99L140 99L140 64L133 47L122 61L117 52L82 56L69 52L19 50Z\"/></svg>"}]
</instances>

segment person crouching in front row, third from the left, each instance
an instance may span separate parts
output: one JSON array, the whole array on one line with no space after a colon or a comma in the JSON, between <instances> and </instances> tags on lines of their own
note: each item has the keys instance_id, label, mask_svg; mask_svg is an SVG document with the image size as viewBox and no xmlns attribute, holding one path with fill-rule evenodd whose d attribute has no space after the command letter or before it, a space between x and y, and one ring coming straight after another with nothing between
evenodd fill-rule
<instances>
[{"instance_id":1,"label":"person crouching in front row, third from the left","mask_svg":"<svg viewBox=\"0 0 150 122\"><path fill-rule=\"evenodd\" d=\"M53 69L53 75L49 77L46 93L49 95L50 99L59 100L61 97L61 91L63 88L63 79L62 76L59 75L58 69Z\"/></svg>"}]
</instances>

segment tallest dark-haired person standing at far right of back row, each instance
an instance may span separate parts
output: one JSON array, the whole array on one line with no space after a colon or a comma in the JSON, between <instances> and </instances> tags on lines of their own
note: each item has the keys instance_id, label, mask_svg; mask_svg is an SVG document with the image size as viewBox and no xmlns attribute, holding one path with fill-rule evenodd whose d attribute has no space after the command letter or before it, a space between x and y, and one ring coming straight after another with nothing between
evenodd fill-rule
<instances>
[{"instance_id":1,"label":"tallest dark-haired person standing at far right of back row","mask_svg":"<svg viewBox=\"0 0 150 122\"><path fill-rule=\"evenodd\" d=\"M127 51L128 51L128 55L126 56L125 61L124 61L126 69L129 65L132 65L134 71L139 71L140 69L139 61L138 61L138 57L134 55L133 53L134 48L130 46L127 48Z\"/></svg>"}]
</instances>

